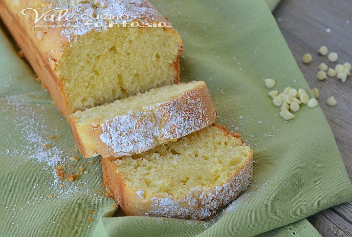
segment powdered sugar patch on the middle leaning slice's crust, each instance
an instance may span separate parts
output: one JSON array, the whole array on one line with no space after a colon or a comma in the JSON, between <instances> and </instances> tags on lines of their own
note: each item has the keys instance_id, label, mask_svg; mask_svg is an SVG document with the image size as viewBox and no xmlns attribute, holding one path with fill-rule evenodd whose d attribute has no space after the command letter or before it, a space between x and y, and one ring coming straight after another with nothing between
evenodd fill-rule
<instances>
[{"instance_id":1,"label":"powdered sugar patch on the middle leaning slice's crust","mask_svg":"<svg viewBox=\"0 0 352 237\"><path fill-rule=\"evenodd\" d=\"M100 125L100 139L109 147L111 155L124 156L148 151L205 128L215 122L215 110L210 109L212 105L201 93L197 88L172 101L107 120Z\"/></svg>"}]
</instances>

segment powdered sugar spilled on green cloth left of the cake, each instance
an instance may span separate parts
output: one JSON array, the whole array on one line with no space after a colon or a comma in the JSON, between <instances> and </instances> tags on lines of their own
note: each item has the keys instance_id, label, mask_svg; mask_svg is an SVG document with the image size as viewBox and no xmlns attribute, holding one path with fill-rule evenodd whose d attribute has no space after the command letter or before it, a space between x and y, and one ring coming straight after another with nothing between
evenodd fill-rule
<instances>
[{"instance_id":1,"label":"powdered sugar spilled on green cloth left of the cake","mask_svg":"<svg viewBox=\"0 0 352 237\"><path fill-rule=\"evenodd\" d=\"M14 160L19 160L19 156L25 157L23 162L36 162L40 165L40 174L42 182L41 188L47 187L46 192L52 196L69 196L87 189L88 184L85 181L66 182L59 176L55 167L58 165L64 167L66 172L70 171L69 155L78 154L75 146L67 149L64 144L58 144L51 139L52 134L58 138L58 130L53 129L43 116L46 106L40 104L28 104L25 100L18 101L18 98L7 98L1 101L6 104L2 108L2 113L7 121L12 121L11 130L16 130L20 143L14 148L13 144L7 144L6 151L0 150L0 155L13 156ZM63 121L63 118L61 119ZM70 130L67 129L70 133ZM10 134L9 134L10 135ZM64 141L65 143L65 141ZM74 171L74 169L71 168ZM42 176L43 175L43 176ZM38 184L33 186L34 189L40 188ZM46 193L44 191L44 193ZM44 196L45 197L45 196ZM41 198L43 199L43 198Z\"/></svg>"}]
</instances>

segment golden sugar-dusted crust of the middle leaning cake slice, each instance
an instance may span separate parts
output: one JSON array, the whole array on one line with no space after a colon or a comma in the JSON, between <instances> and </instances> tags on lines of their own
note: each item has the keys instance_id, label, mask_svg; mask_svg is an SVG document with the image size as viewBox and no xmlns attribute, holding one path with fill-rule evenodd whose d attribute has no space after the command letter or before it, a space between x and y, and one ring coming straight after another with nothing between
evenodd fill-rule
<instances>
[{"instance_id":1,"label":"golden sugar-dusted crust of the middle leaning cake slice","mask_svg":"<svg viewBox=\"0 0 352 237\"><path fill-rule=\"evenodd\" d=\"M107 121L80 125L73 114L70 123L84 157L118 157L148 151L205 128L215 119L216 109L202 83L170 101Z\"/></svg>"}]
</instances>

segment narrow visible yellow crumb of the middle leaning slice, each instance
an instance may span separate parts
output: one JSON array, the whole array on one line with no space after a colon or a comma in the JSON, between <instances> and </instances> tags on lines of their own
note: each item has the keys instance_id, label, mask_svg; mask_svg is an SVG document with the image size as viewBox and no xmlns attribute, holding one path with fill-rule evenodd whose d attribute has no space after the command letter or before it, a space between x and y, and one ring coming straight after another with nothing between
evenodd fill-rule
<instances>
[{"instance_id":1,"label":"narrow visible yellow crumb of the middle leaning slice","mask_svg":"<svg viewBox=\"0 0 352 237\"><path fill-rule=\"evenodd\" d=\"M143 107L153 106L174 99L186 91L198 86L205 85L203 81L186 84L174 84L151 89L145 93L139 93L129 98L116 100L113 103L88 108L85 111L77 111L73 114L76 124L94 123L110 120L111 118L126 114L131 110L143 110Z\"/></svg>"}]
</instances>

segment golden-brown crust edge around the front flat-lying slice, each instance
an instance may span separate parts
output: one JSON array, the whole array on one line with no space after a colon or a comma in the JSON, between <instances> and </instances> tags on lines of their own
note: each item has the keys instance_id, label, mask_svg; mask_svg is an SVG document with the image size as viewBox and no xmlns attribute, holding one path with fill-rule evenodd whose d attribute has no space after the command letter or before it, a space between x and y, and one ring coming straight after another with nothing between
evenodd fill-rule
<instances>
[{"instance_id":1,"label":"golden-brown crust edge around the front flat-lying slice","mask_svg":"<svg viewBox=\"0 0 352 237\"><path fill-rule=\"evenodd\" d=\"M216 126L226 135L240 140L240 134L230 132L217 124L212 126ZM245 145L243 144L243 146ZM104 186L107 188L108 194L114 197L119 204L124 215L204 220L215 215L217 209L230 203L242 191L246 190L253 175L253 151L250 150L242 167L226 183L212 188L211 192L203 193L201 190L195 190L178 200L173 200L172 197L153 197L149 200L143 200L138 194L130 193L124 180L116 174L115 159L102 158Z\"/></svg>"}]
</instances>

